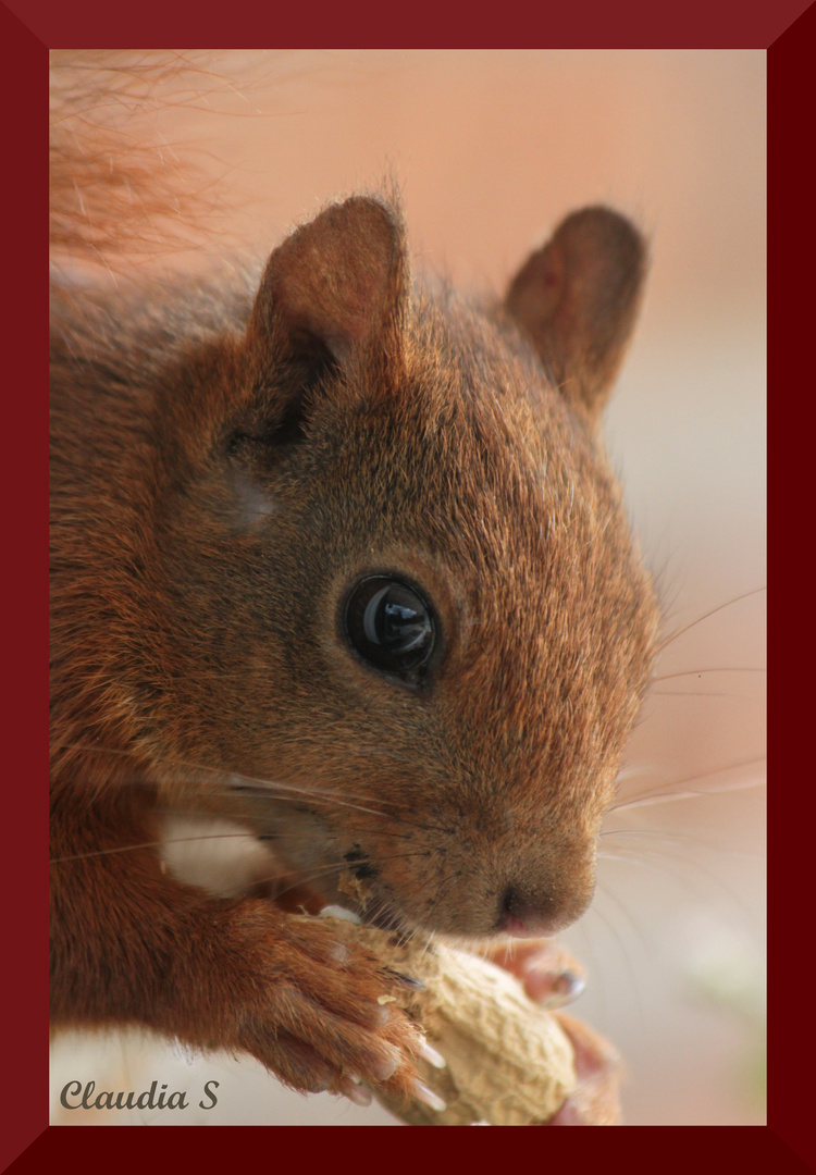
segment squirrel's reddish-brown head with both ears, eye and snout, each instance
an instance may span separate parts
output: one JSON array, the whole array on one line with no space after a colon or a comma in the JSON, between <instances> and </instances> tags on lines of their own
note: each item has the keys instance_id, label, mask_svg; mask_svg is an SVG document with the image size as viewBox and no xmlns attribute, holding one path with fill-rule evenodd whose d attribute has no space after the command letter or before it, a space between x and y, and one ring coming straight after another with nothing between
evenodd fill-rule
<instances>
[{"instance_id":1,"label":"squirrel's reddish-brown head with both ears, eye and snout","mask_svg":"<svg viewBox=\"0 0 816 1175\"><path fill-rule=\"evenodd\" d=\"M381 921L553 933L591 897L656 632L597 431L643 270L589 208L476 307L354 197L174 392L165 753Z\"/></svg>"}]
</instances>

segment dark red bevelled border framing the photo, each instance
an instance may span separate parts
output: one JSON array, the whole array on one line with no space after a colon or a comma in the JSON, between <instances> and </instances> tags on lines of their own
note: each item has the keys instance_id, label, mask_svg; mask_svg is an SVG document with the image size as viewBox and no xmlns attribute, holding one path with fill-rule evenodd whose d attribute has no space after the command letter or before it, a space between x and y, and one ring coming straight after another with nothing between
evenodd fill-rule
<instances>
[{"instance_id":1,"label":"dark red bevelled border framing the photo","mask_svg":"<svg viewBox=\"0 0 816 1175\"><path fill-rule=\"evenodd\" d=\"M302 12L302 15L300 13ZM308 21L308 24L307 24ZM784 459L778 464L784 510L776 511L774 543L785 542L789 528L795 528L785 544L783 566L796 568L797 583L809 585L810 573L800 552L809 548L811 532L810 503L812 489L796 484L803 478L812 456L805 454L804 436L810 432L804 416L790 408L805 400L803 391L812 389L812 360L807 350L812 338L816 308L814 296L814 187L809 180L814 155L814 54L816 4L807 0L687 0L683 6L658 6L644 0L623 5L583 0L562 6L536 6L534 11L500 14L471 6L448 12L424 0L409 9L355 9L346 5L320 9L288 7L247 7L229 11L229 19L212 7L172 7L143 0L131 6L85 0L56 8L44 0L12 0L0 4L0 29L4 68L4 152L2 182L5 216L4 255L9 264L6 273L5 310L8 327L4 345L4 397L7 414L4 470L4 530L9 538L2 576L6 596L6 683L8 693L4 712L6 727L6 770L4 779L5 853L2 853L2 892L5 897L4 1047L0 1048L0 1173L42 1169L46 1164L61 1168L76 1166L96 1171L116 1170L147 1162L160 1170L210 1170L226 1164L280 1167L300 1163L310 1167L328 1160L337 1163L335 1146L329 1152L315 1142L315 1135L300 1153L283 1153L280 1137L272 1140L263 1128L245 1128L240 1135L225 1130L202 1137L200 1132L181 1134L149 1132L123 1140L109 1130L59 1130L47 1124L47 289L48 263L45 223L47 219L47 87L48 48L72 47L248 47L261 43L302 47L306 42L336 47L383 47L403 43L464 47L557 47L557 48L757 48L768 49L769 74L769 341L770 385L785 397ZM319 34L319 35L317 35ZM227 45L225 45L225 41ZM804 347L802 345L804 343ZM797 345L800 344L800 345ZM805 409L803 408L803 411ZM782 414L780 414L782 415ZM781 430L780 430L781 431ZM772 437L774 434L771 434ZM771 444L771 457L781 442ZM808 492L810 490L810 492ZM772 502L774 499L771 499ZM801 505L800 505L801 504ZM780 537L776 537L780 536ZM794 545L794 538L796 545ZM772 548L774 549L774 548ZM771 549L771 550L772 550ZM782 563L782 559L777 560ZM809 560L808 560L809 562ZM790 577L785 577L789 578ZM803 657L808 657L805 633L810 591L792 595L789 613L796 615L796 634L775 642L777 656L792 647L785 683L788 716L798 718L796 730L808 728L810 714L796 713L807 705L809 691L797 689L804 677ZM803 680L803 686L807 678ZM771 712L774 717L774 711ZM790 717L788 718L790 721ZM795 740L789 740L795 746ZM790 752L788 752L788 757ZM785 751L782 751L785 758ZM800 761L801 758L801 761ZM691 1171L714 1170L816 1170L816 1130L812 1126L814 1099L807 1045L810 1015L800 988L800 945L812 918L812 884L800 861L812 857L805 837L814 827L804 811L812 808L809 757L797 757L790 764L782 817L771 821L771 860L776 860L783 884L771 892L771 959L776 960L776 981L771 985L771 1060L772 1093L770 1124L764 1128L728 1128L727 1134L711 1129L703 1134L675 1137L655 1133L613 1134L607 1141L588 1143L564 1140L563 1134L547 1135L536 1146L534 1162L571 1171L581 1170L593 1159L601 1163L623 1162L629 1170L663 1170L682 1164ZM800 785L800 780L802 784ZM791 795L792 799L787 799ZM795 806L794 806L795 803ZM788 812L796 813L790 819ZM781 831L783 828L784 831ZM784 839L783 839L784 838ZM798 839L797 839L798 838ZM782 841L782 844L780 844ZM784 942L784 947L783 947ZM796 949L794 949L796 947ZM784 959L785 998L781 996L778 972ZM807 962L807 956L805 956ZM804 968L805 975L809 967ZM774 978L774 976L771 976ZM804 1007L804 1010L803 1010ZM790 1009L790 1010L789 1010ZM800 1022L804 1019L804 1027ZM156 1137L161 1141L156 1142ZM386 1139L393 1137L387 1135ZM524 1162L517 1147L527 1152L530 1142L519 1142L511 1149L495 1135L477 1134L477 1142L444 1135L435 1136L428 1155L420 1156L419 1144L399 1135L401 1156L414 1163L441 1168L448 1152L455 1147L454 1162L468 1161L471 1148L487 1160L488 1152L504 1162ZM494 1142L490 1143L489 1139ZM528 1135L528 1140L531 1136ZM557 1140L561 1139L559 1142ZM295 1139L296 1144L296 1139ZM387 1143L383 1144L383 1149ZM598 1150L600 1148L600 1150ZM390 1164L393 1157L369 1136L361 1152L343 1148L345 1163L368 1168L372 1161ZM613 1157L614 1156L614 1157ZM722 1168L721 1168L722 1164Z\"/></svg>"}]
</instances>

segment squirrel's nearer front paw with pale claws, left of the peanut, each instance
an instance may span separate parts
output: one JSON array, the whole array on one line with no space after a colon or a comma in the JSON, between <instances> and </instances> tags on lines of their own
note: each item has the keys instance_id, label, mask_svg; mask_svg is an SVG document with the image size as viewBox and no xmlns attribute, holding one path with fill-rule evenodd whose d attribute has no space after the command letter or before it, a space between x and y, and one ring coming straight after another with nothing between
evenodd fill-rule
<instances>
[{"instance_id":1,"label":"squirrel's nearer front paw with pale claws, left of the peanut","mask_svg":"<svg viewBox=\"0 0 816 1175\"><path fill-rule=\"evenodd\" d=\"M422 1040L394 1001L403 976L308 916L281 919L274 940L256 949L241 1048L309 1093L330 1090L366 1104L366 1086L415 1092L412 1059Z\"/></svg>"}]
</instances>

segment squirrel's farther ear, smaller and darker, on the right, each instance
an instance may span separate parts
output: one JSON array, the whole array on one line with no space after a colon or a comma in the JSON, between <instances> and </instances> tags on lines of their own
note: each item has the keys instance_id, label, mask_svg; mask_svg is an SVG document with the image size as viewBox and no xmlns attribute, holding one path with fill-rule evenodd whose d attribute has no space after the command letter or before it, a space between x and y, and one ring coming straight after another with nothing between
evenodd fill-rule
<instances>
[{"instance_id":1,"label":"squirrel's farther ear, smaller and darker, on the right","mask_svg":"<svg viewBox=\"0 0 816 1175\"><path fill-rule=\"evenodd\" d=\"M514 278L506 306L566 395L595 415L635 324L646 273L641 234L609 208L573 213Z\"/></svg>"}]
</instances>

